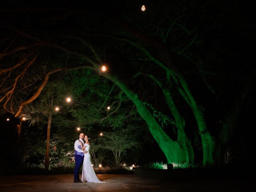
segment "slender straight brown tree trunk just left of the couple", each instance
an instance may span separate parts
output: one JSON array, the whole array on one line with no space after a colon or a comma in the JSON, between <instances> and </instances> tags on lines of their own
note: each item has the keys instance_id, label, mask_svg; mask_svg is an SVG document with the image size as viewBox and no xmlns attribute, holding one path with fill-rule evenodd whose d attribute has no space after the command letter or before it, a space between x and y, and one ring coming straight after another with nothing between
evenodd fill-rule
<instances>
[{"instance_id":1,"label":"slender straight brown tree trunk just left of the couple","mask_svg":"<svg viewBox=\"0 0 256 192\"><path fill-rule=\"evenodd\" d=\"M49 170L49 159L50 159L50 132L51 132L51 122L52 122L52 107L53 107L53 96L51 98L50 112L48 115L48 125L47 125L47 138L46 138L46 152L45 152L45 165L44 169Z\"/></svg>"}]
</instances>

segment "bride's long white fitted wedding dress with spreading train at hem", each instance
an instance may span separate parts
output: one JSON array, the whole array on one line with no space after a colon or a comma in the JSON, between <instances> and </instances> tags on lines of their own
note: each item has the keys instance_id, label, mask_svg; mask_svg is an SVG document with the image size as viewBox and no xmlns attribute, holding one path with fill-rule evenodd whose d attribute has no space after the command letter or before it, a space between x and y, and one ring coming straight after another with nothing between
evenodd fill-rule
<instances>
[{"instance_id":1,"label":"bride's long white fitted wedding dress with spreading train at hem","mask_svg":"<svg viewBox=\"0 0 256 192\"><path fill-rule=\"evenodd\" d=\"M91 156L90 156L90 145L84 144L86 146L85 150L88 153L84 154L84 163L83 163L83 170L82 170L82 182L88 183L106 183L103 181L98 180L91 163Z\"/></svg>"}]
</instances>

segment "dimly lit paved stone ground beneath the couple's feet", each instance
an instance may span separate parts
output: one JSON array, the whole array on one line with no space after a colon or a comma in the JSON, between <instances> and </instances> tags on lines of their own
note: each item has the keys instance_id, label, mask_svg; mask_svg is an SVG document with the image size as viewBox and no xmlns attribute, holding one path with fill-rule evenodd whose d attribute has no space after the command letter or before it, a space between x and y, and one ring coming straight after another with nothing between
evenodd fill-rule
<instances>
[{"instance_id":1,"label":"dimly lit paved stone ground beneath the couple's feet","mask_svg":"<svg viewBox=\"0 0 256 192\"><path fill-rule=\"evenodd\" d=\"M251 192L246 180L162 182L134 174L97 174L106 183L74 183L73 174L0 176L0 192Z\"/></svg>"}]
</instances>

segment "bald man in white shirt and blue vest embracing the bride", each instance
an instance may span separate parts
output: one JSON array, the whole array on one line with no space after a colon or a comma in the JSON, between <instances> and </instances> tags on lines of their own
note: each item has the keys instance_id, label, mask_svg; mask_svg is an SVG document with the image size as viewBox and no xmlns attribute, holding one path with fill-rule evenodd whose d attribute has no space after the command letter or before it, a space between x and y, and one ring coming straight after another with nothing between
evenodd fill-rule
<instances>
[{"instance_id":1,"label":"bald man in white shirt and blue vest embracing the bride","mask_svg":"<svg viewBox=\"0 0 256 192\"><path fill-rule=\"evenodd\" d=\"M79 140L84 145L84 134L80 133ZM74 169L74 183L82 183L82 181L79 179L79 170L82 167L82 164L84 162L84 153L88 153L86 150L81 149L81 145L79 144L79 141L76 140L74 144L75 148L75 169Z\"/></svg>"}]
</instances>

